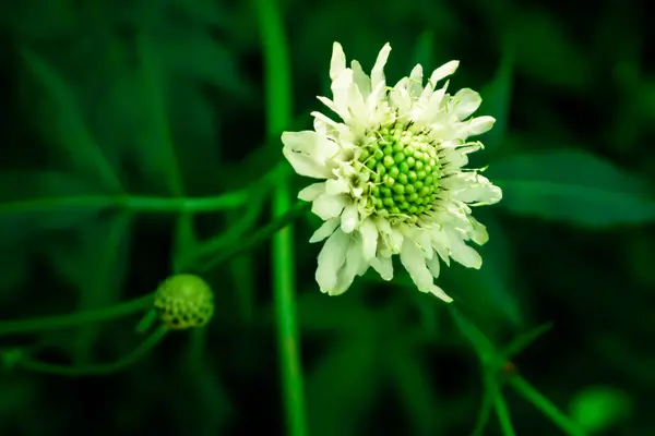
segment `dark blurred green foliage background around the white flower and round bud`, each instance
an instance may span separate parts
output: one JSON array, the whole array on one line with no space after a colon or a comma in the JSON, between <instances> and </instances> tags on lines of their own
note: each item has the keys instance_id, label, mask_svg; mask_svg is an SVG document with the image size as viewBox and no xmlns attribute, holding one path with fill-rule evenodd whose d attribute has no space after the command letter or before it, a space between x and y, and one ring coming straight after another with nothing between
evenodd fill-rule
<instances>
[{"instance_id":1,"label":"dark blurred green foliage background around the white flower and round bud","mask_svg":"<svg viewBox=\"0 0 655 436\"><path fill-rule=\"evenodd\" d=\"M644 11L635 0L3 2L0 435L291 434L276 340L288 319L275 316L272 280L285 265L306 434L511 434L485 405L499 396L519 435L655 434ZM279 133L311 129L335 40L365 70L391 43L390 83L458 59L451 89L479 90L478 113L498 120L473 164L504 198L476 209L490 233L483 268L439 279L450 308L403 274L321 294L307 214L287 233L290 262L257 233L275 221L281 186L309 182L283 161ZM179 271L215 291L205 329L100 376L23 364L120 359L142 340L145 305L67 328L14 322L124 307ZM493 377L480 358L516 338L524 347ZM521 395L517 375L568 431Z\"/></svg>"}]
</instances>

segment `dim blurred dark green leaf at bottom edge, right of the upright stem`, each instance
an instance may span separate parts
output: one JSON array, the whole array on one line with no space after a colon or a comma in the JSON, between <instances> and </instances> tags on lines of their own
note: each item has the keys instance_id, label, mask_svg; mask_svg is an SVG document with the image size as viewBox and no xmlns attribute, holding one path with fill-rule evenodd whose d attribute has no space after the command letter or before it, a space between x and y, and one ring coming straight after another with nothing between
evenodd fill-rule
<instances>
[{"instance_id":1,"label":"dim blurred dark green leaf at bottom edge, right of the upright stem","mask_svg":"<svg viewBox=\"0 0 655 436\"><path fill-rule=\"evenodd\" d=\"M311 434L355 436L358 420L372 409L380 386L370 338L338 341L307 377Z\"/></svg>"}]
</instances>

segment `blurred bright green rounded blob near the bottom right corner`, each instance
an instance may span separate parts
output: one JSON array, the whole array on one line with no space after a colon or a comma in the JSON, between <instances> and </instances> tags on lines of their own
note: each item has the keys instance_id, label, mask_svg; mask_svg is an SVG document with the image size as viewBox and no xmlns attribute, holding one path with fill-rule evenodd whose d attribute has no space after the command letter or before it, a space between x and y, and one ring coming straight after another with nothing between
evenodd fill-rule
<instances>
[{"instance_id":1,"label":"blurred bright green rounded blob near the bottom right corner","mask_svg":"<svg viewBox=\"0 0 655 436\"><path fill-rule=\"evenodd\" d=\"M607 432L628 419L632 405L630 397L610 386L590 386L579 392L569 404L570 415L590 434Z\"/></svg>"}]
</instances>

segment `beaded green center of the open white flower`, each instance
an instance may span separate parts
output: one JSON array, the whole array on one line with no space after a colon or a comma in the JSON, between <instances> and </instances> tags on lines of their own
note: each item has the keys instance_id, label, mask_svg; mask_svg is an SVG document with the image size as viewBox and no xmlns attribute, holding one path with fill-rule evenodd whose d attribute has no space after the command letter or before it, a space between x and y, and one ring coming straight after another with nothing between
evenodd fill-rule
<instances>
[{"instance_id":1,"label":"beaded green center of the open white flower","mask_svg":"<svg viewBox=\"0 0 655 436\"><path fill-rule=\"evenodd\" d=\"M382 128L367 136L359 162L372 173L367 204L383 217L429 211L439 192L437 148L424 133Z\"/></svg>"}]
</instances>

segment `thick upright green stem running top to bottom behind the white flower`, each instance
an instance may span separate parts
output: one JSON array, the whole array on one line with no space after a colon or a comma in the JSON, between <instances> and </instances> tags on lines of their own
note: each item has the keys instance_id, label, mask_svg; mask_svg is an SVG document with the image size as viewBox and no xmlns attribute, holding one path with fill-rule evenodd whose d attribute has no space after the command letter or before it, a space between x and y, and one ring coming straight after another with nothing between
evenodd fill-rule
<instances>
[{"instance_id":1,"label":"thick upright green stem running top to bottom behind the white flower","mask_svg":"<svg viewBox=\"0 0 655 436\"><path fill-rule=\"evenodd\" d=\"M267 135L279 135L291 120L289 56L283 20L274 0L257 0L265 65ZM290 208L288 178L281 178L273 196L273 216L283 217ZM277 318L277 341L287 432L306 434L302 368L295 301L293 228L273 237L273 293Z\"/></svg>"}]
</instances>

